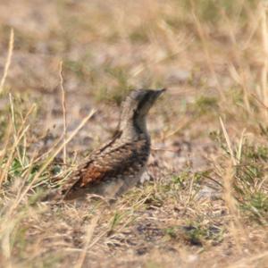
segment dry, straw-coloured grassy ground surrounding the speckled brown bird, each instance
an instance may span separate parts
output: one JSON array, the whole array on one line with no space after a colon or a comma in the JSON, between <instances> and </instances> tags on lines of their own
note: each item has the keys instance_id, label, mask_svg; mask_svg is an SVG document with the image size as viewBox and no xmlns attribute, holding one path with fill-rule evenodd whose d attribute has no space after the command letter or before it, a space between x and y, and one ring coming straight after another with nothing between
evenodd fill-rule
<instances>
[{"instance_id":1,"label":"dry, straw-coloured grassy ground surrounding the speckled brown bird","mask_svg":"<svg viewBox=\"0 0 268 268\"><path fill-rule=\"evenodd\" d=\"M0 37L1 267L268 267L264 3L1 1ZM61 62L67 137L96 110L66 163ZM113 205L40 202L132 88L168 88L145 181Z\"/></svg>"}]
</instances>

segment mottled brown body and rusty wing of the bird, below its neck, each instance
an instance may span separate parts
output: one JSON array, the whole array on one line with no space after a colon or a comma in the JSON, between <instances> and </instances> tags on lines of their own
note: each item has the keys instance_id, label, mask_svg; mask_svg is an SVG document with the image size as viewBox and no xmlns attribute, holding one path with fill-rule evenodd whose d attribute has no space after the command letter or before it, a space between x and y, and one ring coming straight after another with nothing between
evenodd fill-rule
<instances>
[{"instance_id":1,"label":"mottled brown body and rusty wing of the bird, below its neck","mask_svg":"<svg viewBox=\"0 0 268 268\"><path fill-rule=\"evenodd\" d=\"M85 193L105 197L121 195L140 179L149 154L147 135L126 140L118 134L73 172L63 189L64 198L83 197Z\"/></svg>"}]
</instances>

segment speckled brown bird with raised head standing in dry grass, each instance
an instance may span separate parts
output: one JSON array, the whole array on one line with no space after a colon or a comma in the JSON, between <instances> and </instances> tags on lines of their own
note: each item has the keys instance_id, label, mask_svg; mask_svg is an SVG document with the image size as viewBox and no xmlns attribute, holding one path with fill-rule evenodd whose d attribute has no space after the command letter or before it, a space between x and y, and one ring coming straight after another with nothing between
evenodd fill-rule
<instances>
[{"instance_id":1,"label":"speckled brown bird with raised head standing in dry grass","mask_svg":"<svg viewBox=\"0 0 268 268\"><path fill-rule=\"evenodd\" d=\"M121 104L113 138L80 163L57 196L73 200L91 194L112 200L134 187L146 171L150 155L147 113L165 90L132 90Z\"/></svg>"}]
</instances>

